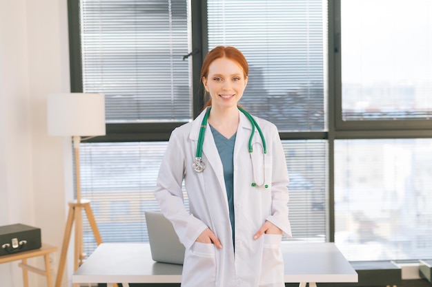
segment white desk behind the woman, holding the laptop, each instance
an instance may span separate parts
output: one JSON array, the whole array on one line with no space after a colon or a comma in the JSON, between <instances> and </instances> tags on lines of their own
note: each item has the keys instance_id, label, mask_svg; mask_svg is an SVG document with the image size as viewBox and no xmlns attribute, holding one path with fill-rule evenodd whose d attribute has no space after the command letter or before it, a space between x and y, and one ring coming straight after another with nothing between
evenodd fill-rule
<instances>
[{"instance_id":1,"label":"white desk behind the woman, holding the laptop","mask_svg":"<svg viewBox=\"0 0 432 287\"><path fill-rule=\"evenodd\" d=\"M354 268L333 243L282 243L286 283L357 282ZM72 275L73 283L180 283L181 265L154 262L150 246L103 243Z\"/></svg>"}]
</instances>

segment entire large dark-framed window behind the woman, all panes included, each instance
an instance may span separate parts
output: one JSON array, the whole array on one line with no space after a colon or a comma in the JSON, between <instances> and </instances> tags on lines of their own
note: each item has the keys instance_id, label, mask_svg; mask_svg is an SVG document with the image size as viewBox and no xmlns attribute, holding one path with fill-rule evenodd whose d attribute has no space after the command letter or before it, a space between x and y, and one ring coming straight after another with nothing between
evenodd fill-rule
<instances>
[{"instance_id":1,"label":"entire large dark-framed window behind the woman, all panes included","mask_svg":"<svg viewBox=\"0 0 432 287\"><path fill-rule=\"evenodd\" d=\"M166 140L204 103L204 55L235 45L251 66L242 105L279 128L293 240L351 260L431 257L431 5L70 0L72 92L106 94L107 135L80 153L103 240L147 240Z\"/></svg>"}]
</instances>

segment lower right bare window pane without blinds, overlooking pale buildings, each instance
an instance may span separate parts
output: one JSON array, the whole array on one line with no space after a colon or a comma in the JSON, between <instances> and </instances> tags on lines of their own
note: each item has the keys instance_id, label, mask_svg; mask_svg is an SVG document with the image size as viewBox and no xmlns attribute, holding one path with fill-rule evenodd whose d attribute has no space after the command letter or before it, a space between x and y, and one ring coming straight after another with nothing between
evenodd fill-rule
<instances>
[{"instance_id":1,"label":"lower right bare window pane without blinds, overlooking pale buildings","mask_svg":"<svg viewBox=\"0 0 432 287\"><path fill-rule=\"evenodd\" d=\"M432 257L430 138L337 140L335 175L335 242L348 259Z\"/></svg>"}]
</instances>

